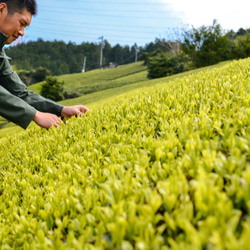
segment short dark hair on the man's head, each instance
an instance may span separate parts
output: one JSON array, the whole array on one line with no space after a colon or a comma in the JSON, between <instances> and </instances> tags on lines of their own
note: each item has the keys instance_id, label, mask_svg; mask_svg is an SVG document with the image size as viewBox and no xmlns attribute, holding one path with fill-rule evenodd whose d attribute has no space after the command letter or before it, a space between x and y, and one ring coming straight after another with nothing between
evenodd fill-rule
<instances>
[{"instance_id":1,"label":"short dark hair on the man's head","mask_svg":"<svg viewBox=\"0 0 250 250\"><path fill-rule=\"evenodd\" d=\"M0 3L6 3L8 6L8 15L13 15L15 12L23 12L24 9L32 15L37 14L36 0L0 0Z\"/></svg>"}]
</instances>

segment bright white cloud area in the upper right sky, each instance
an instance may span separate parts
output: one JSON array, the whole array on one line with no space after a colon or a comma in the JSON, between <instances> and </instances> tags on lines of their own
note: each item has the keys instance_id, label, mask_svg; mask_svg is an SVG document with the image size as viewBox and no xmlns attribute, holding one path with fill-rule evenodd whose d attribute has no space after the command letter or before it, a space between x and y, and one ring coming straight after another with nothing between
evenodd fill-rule
<instances>
[{"instance_id":1,"label":"bright white cloud area in the upper right sky","mask_svg":"<svg viewBox=\"0 0 250 250\"><path fill-rule=\"evenodd\" d=\"M223 29L250 28L250 1L247 0L151 0L164 3L182 15L183 23L200 27L212 25L217 19Z\"/></svg>"}]
</instances>

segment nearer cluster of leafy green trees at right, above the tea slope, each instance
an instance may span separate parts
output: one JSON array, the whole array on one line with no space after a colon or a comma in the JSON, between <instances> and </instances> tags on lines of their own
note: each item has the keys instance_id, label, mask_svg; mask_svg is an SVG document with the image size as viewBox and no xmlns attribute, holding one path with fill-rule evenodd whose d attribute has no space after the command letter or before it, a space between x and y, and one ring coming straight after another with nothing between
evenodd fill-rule
<instances>
[{"instance_id":1,"label":"nearer cluster of leafy green trees at right, above the tea slope","mask_svg":"<svg viewBox=\"0 0 250 250\"><path fill-rule=\"evenodd\" d=\"M161 48L144 53L149 78L250 56L250 29L225 32L216 20L211 26L184 30L174 41L160 42Z\"/></svg>"}]
</instances>

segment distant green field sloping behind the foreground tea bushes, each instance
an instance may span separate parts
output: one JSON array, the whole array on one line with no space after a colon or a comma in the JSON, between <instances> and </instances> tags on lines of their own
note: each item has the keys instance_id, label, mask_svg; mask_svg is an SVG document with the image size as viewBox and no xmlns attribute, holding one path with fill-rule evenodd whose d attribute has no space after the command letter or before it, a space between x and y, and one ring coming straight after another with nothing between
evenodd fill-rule
<instances>
[{"instance_id":1,"label":"distant green field sloping behind the foreground tea bushes","mask_svg":"<svg viewBox=\"0 0 250 250\"><path fill-rule=\"evenodd\" d=\"M184 77L190 74L196 74L205 69L221 67L229 62L222 62L217 65L184 72L170 77L149 80L147 78L146 66L143 62L122 65L115 69L93 70L85 73L58 76L58 80L65 82L65 90L68 93L77 93L81 95L78 98L61 101L62 105L83 104L89 108L95 108L109 98L121 95L134 89L157 85L161 82L168 82L175 78ZM40 93L41 83L28 87L29 90ZM91 93L90 93L91 92ZM89 94L84 94L89 93ZM34 124L31 124L33 126ZM22 128L13 123L7 123L3 118L0 119L0 138L11 133L23 131Z\"/></svg>"}]
</instances>

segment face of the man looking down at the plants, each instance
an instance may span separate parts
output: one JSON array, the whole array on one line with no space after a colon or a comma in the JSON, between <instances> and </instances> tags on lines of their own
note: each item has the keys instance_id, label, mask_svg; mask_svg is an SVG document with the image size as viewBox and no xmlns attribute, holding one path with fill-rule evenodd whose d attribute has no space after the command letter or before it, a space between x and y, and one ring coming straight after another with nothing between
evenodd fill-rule
<instances>
[{"instance_id":1,"label":"face of the man looking down at the plants","mask_svg":"<svg viewBox=\"0 0 250 250\"><path fill-rule=\"evenodd\" d=\"M1 4L2 5L2 4ZM24 29L30 25L32 14L26 9L22 13L15 12L13 15L8 15L7 6L0 5L0 31L9 36L6 44L10 44L24 35ZM3 8L1 8L3 7Z\"/></svg>"}]
</instances>

